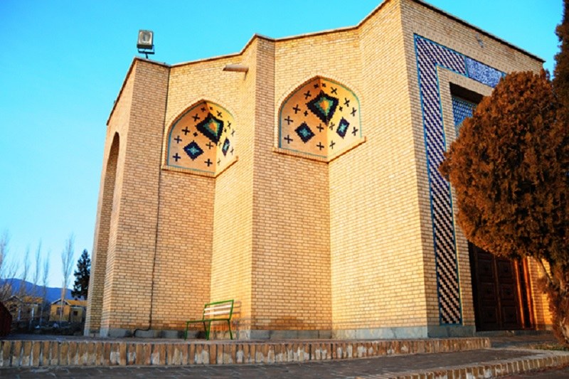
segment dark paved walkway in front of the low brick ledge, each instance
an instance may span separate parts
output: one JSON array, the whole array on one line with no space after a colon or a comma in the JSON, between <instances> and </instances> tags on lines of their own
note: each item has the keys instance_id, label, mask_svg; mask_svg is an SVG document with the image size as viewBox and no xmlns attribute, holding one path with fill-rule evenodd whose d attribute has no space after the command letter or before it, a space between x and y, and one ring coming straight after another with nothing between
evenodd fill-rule
<instances>
[{"instance_id":1,"label":"dark paved walkway in front of the low brick ledge","mask_svg":"<svg viewBox=\"0 0 569 379\"><path fill-rule=\"evenodd\" d=\"M355 378L408 370L469 365L531 356L514 349L484 349L458 353L385 356L346 361L283 363L275 365L207 365L186 367L5 368L2 378ZM565 378L567 378L565 374Z\"/></svg>"}]
</instances>

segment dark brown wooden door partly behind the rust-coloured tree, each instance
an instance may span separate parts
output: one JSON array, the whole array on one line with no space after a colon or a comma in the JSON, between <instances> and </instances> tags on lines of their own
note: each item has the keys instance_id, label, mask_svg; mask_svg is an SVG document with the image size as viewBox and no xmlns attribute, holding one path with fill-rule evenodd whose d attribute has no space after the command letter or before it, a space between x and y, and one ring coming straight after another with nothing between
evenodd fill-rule
<instances>
[{"instance_id":1,"label":"dark brown wooden door partly behind the rust-coloured tree","mask_svg":"<svg viewBox=\"0 0 569 379\"><path fill-rule=\"evenodd\" d=\"M469 244L477 331L530 327L523 267Z\"/></svg>"}]
</instances>

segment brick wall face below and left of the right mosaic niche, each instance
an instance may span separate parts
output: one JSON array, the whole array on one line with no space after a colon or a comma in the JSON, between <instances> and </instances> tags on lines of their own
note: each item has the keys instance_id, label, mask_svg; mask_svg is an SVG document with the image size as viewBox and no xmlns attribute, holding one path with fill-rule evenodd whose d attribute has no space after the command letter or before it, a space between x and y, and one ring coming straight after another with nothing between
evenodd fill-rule
<instances>
[{"instance_id":1,"label":"brick wall face below and left of the right mosaic niche","mask_svg":"<svg viewBox=\"0 0 569 379\"><path fill-rule=\"evenodd\" d=\"M277 99L326 70L328 43L257 43L252 329L330 329L327 167L272 151Z\"/></svg>"}]
</instances>

